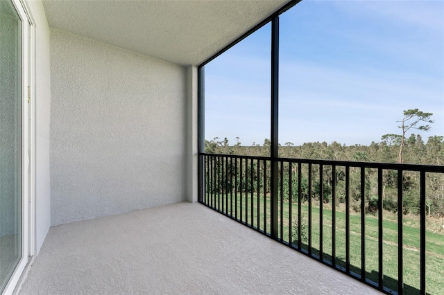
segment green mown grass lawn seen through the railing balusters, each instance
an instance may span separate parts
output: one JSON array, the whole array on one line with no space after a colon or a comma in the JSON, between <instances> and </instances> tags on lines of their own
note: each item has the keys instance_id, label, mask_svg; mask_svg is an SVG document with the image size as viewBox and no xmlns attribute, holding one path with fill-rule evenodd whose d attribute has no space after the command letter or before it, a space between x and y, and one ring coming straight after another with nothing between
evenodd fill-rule
<instances>
[{"instance_id":1,"label":"green mown grass lawn seen through the railing balusters","mask_svg":"<svg viewBox=\"0 0 444 295\"><path fill-rule=\"evenodd\" d=\"M237 198L237 202L235 199ZM264 197L257 199L256 195L244 193L243 195L233 195L225 199L220 195L214 198L213 206L220 211L232 213L237 219L247 224L270 233L270 199ZM230 202L231 201L231 202ZM253 201L253 202L252 202ZM223 203L223 206L222 206ZM285 242L298 244L297 234L291 238L289 235L290 224L298 219L298 204L289 204L288 202L278 202L278 238L282 237ZM257 206L259 205L259 224L257 220ZM265 208L264 208L265 205ZM232 210L231 210L232 208ZM235 210L237 208L237 211ZM251 210L253 208L253 211ZM292 211L290 221L290 208ZM264 210L265 209L265 210ZM302 204L302 224L308 224L308 204ZM252 215L253 213L253 215ZM331 204L323 204L323 224L320 223L321 209L318 204L311 207L311 248L312 253L319 255L320 249L320 229L323 229L323 256L331 261L332 257L332 235L336 236L335 243L335 261L336 265L345 268L345 212L340 208L335 208L335 227L333 231L333 217ZM281 216L282 226L281 226ZM253 217L253 219L252 219ZM265 217L265 218L264 218ZM266 222L264 223L264 220ZM420 288L420 229L417 226L407 224L418 224L419 217L403 217L403 280L404 294L418 294ZM266 226L264 226L264 224ZM366 278L377 282L379 273L378 260L378 218L377 215L367 214L364 220L365 224L365 271ZM282 228L282 232L281 232ZM426 289L428 294L444 294L444 235L426 231ZM301 239L302 249L308 249L307 238ZM361 273L361 215L360 213L350 213L350 270L357 274ZM383 274L384 287L398 292L398 222L392 218L383 216Z\"/></svg>"}]
</instances>

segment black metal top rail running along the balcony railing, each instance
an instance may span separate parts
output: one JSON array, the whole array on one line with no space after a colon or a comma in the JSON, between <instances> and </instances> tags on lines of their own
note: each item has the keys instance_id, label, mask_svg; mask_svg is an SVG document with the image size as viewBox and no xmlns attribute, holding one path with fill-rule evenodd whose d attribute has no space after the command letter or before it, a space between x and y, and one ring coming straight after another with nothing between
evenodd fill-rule
<instances>
[{"instance_id":1,"label":"black metal top rail running along the balcony railing","mask_svg":"<svg viewBox=\"0 0 444 295\"><path fill-rule=\"evenodd\" d=\"M255 159L271 161L271 157L262 156L244 156L240 154L211 154L200 153L203 156L212 157L231 157L234 159ZM336 161L336 160L321 160L321 159L298 159L298 158L275 158L275 161L284 161L291 163L304 163L304 164L318 164L318 165L334 165L345 167L358 167L358 168L379 168L388 170L407 170L407 171L424 171L424 172L436 172L444 173L444 166L434 165L421 165L421 164L400 164L400 163L378 163L378 162L358 162L358 161Z\"/></svg>"}]
</instances>

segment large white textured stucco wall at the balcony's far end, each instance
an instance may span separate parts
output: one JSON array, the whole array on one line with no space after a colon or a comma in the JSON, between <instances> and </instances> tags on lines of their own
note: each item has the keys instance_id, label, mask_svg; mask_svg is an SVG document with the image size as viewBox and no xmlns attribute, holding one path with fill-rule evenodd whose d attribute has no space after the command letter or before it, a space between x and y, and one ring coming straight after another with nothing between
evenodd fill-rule
<instances>
[{"instance_id":1,"label":"large white textured stucco wall at the balcony's far end","mask_svg":"<svg viewBox=\"0 0 444 295\"><path fill-rule=\"evenodd\" d=\"M51 224L186 199L186 71L51 29Z\"/></svg>"}]
</instances>

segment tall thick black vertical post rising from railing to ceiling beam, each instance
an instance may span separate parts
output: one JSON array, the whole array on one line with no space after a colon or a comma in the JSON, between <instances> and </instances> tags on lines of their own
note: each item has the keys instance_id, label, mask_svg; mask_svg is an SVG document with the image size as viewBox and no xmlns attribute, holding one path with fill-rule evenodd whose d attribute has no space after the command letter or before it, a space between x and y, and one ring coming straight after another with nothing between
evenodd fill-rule
<instances>
[{"instance_id":1,"label":"tall thick black vertical post rising from railing to ceiling beam","mask_svg":"<svg viewBox=\"0 0 444 295\"><path fill-rule=\"evenodd\" d=\"M278 238L279 17L271 21L271 238Z\"/></svg>"}]
</instances>

